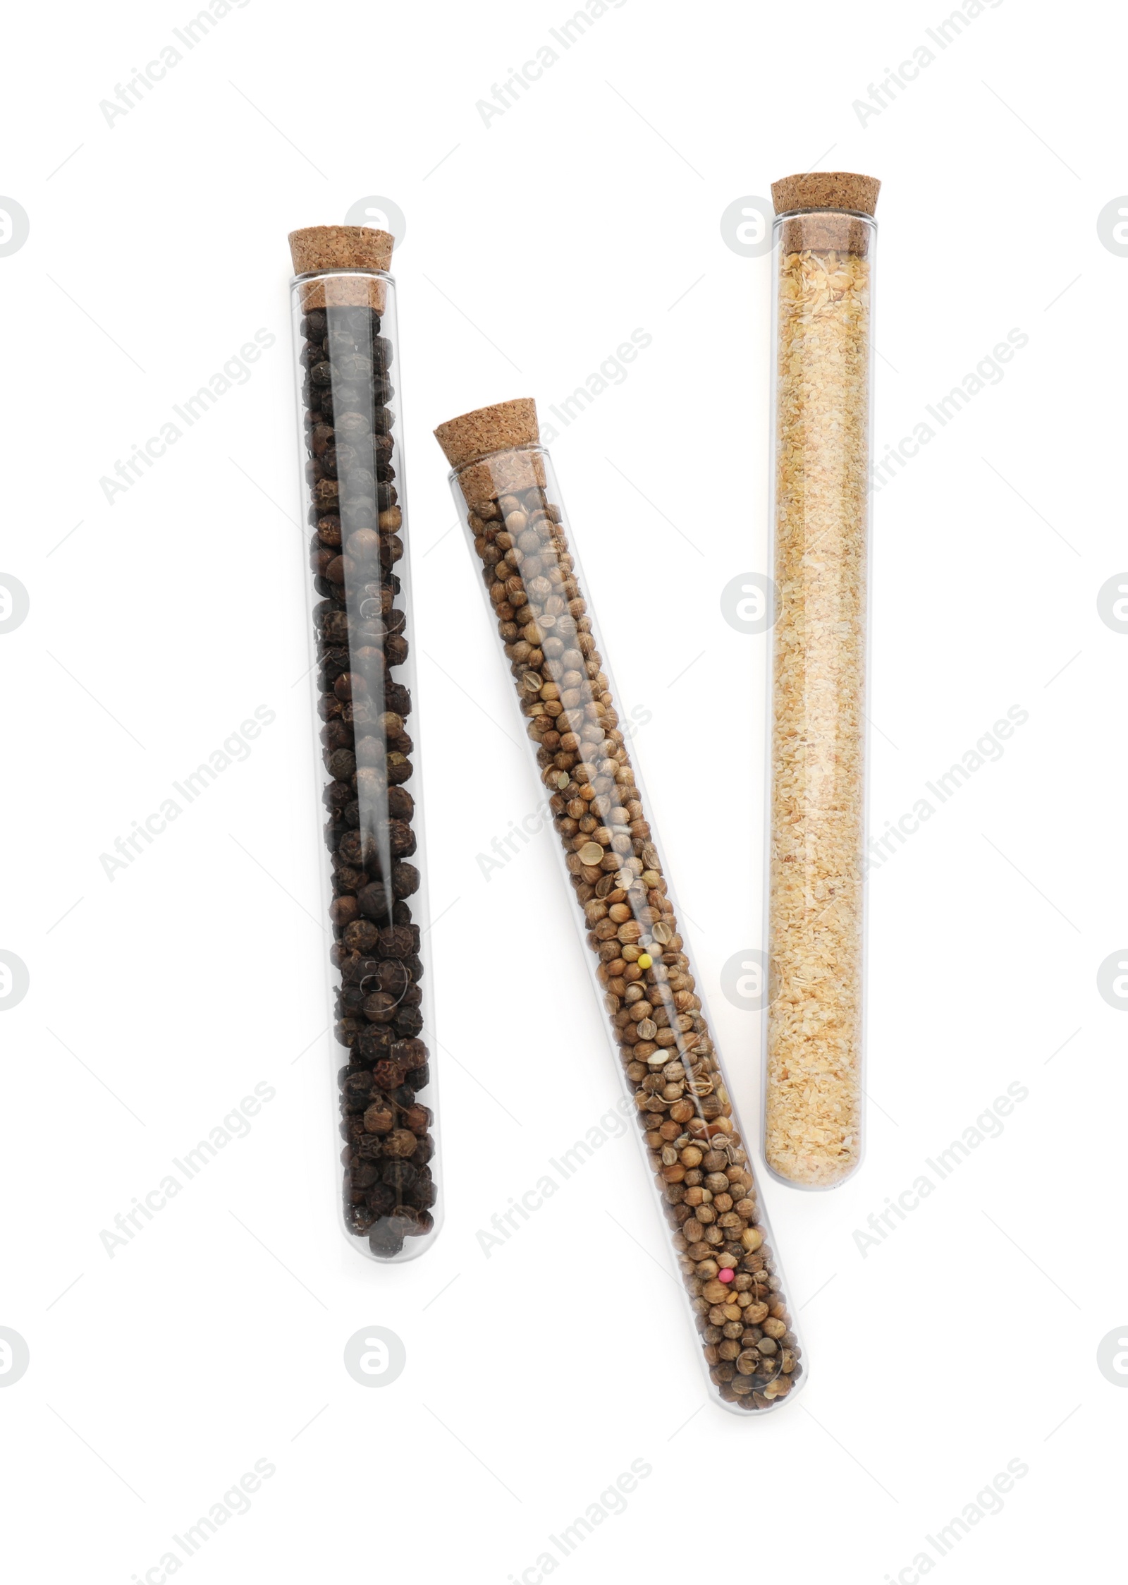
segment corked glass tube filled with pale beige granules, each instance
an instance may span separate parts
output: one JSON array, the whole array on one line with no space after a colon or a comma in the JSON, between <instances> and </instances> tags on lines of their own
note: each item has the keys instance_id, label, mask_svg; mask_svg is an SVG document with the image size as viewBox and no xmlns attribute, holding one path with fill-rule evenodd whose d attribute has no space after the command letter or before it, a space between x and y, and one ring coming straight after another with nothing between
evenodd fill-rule
<instances>
[{"instance_id":1,"label":"corked glass tube filled with pale beige granules","mask_svg":"<svg viewBox=\"0 0 1128 1585\"><path fill-rule=\"evenodd\" d=\"M878 198L775 182L764 1154L806 1189L862 1155L871 288Z\"/></svg>"}]
</instances>

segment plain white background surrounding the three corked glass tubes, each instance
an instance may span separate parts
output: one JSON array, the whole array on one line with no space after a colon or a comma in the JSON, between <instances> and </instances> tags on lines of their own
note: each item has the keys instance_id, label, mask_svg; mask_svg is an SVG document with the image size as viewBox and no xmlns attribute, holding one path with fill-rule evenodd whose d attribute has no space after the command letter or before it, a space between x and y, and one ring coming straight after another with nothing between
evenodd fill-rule
<instances>
[{"instance_id":1,"label":"plain white background surrounding the three corked glass tubes","mask_svg":"<svg viewBox=\"0 0 1128 1585\"><path fill-rule=\"evenodd\" d=\"M968 10L973 8L970 0ZM141 105L100 100L193 14L10 19L0 190L8 531L30 615L0 637L0 1392L21 1580L165 1577L171 1536L276 1472L189 1577L540 1577L632 1460L651 1474L567 1577L917 1577L927 1534L1028 1474L944 1579L1090 1574L1112 1541L1128 1393L1123 918L1123 24L987 8L900 98L854 100L944 6L626 0L483 125L475 101L566 5L233 10ZM65 162L65 163L60 163ZM868 1155L833 1194L767 1186L810 1385L705 1403L635 1144L612 1141L486 1258L475 1238L618 1095L436 423L559 403L653 346L553 445L656 831L743 1117L757 1019L719 991L759 946L765 640L719 596L765 571L768 258L722 211L791 171L882 178L876 437L911 433L1012 328L1028 346L875 502L871 819L897 819L1020 705L1030 720L870 881ZM285 236L364 195L396 252L417 575L447 1220L380 1270L336 1227ZM1128 203L1128 200L1126 200ZM98 480L238 347L252 379L128 493ZM676 529L675 529L676 525ZM456 678L456 683L452 680ZM467 702L467 694L477 707ZM252 756L112 881L100 854L255 705ZM444 910L448 910L444 913ZM63 918L65 916L65 918ZM250 1092L276 1097L111 1258L112 1217ZM1006 1090L1028 1089L884 1241L854 1238ZM613 1217L613 1220L612 1220ZM651 1258L653 1257L653 1258ZM355 1384L382 1325L407 1366ZM688 1423L686 1423L688 1422ZM543 1564L542 1564L543 1568ZM173 1577L171 1574L168 1577Z\"/></svg>"}]
</instances>

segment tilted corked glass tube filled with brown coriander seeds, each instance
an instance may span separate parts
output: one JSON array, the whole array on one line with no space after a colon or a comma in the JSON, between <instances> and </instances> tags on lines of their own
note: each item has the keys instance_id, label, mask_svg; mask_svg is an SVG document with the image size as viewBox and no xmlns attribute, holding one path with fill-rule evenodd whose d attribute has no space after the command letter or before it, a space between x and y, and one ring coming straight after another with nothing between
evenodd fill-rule
<instances>
[{"instance_id":1,"label":"tilted corked glass tube filled with brown coriander seeds","mask_svg":"<svg viewBox=\"0 0 1128 1585\"><path fill-rule=\"evenodd\" d=\"M710 1392L735 1412L764 1412L798 1385L802 1349L535 406L482 407L436 436L550 794Z\"/></svg>"}]
</instances>

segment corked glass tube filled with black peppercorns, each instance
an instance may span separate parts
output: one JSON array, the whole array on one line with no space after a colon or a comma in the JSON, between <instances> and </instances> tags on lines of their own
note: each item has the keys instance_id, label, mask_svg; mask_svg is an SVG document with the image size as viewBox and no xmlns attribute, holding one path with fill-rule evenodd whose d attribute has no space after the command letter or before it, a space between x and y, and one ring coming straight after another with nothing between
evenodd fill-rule
<instances>
[{"instance_id":1,"label":"corked glass tube filled with black peppercorns","mask_svg":"<svg viewBox=\"0 0 1128 1585\"><path fill-rule=\"evenodd\" d=\"M290 250L344 1225L407 1260L437 1230L437 1163L391 236L312 227Z\"/></svg>"}]
</instances>

